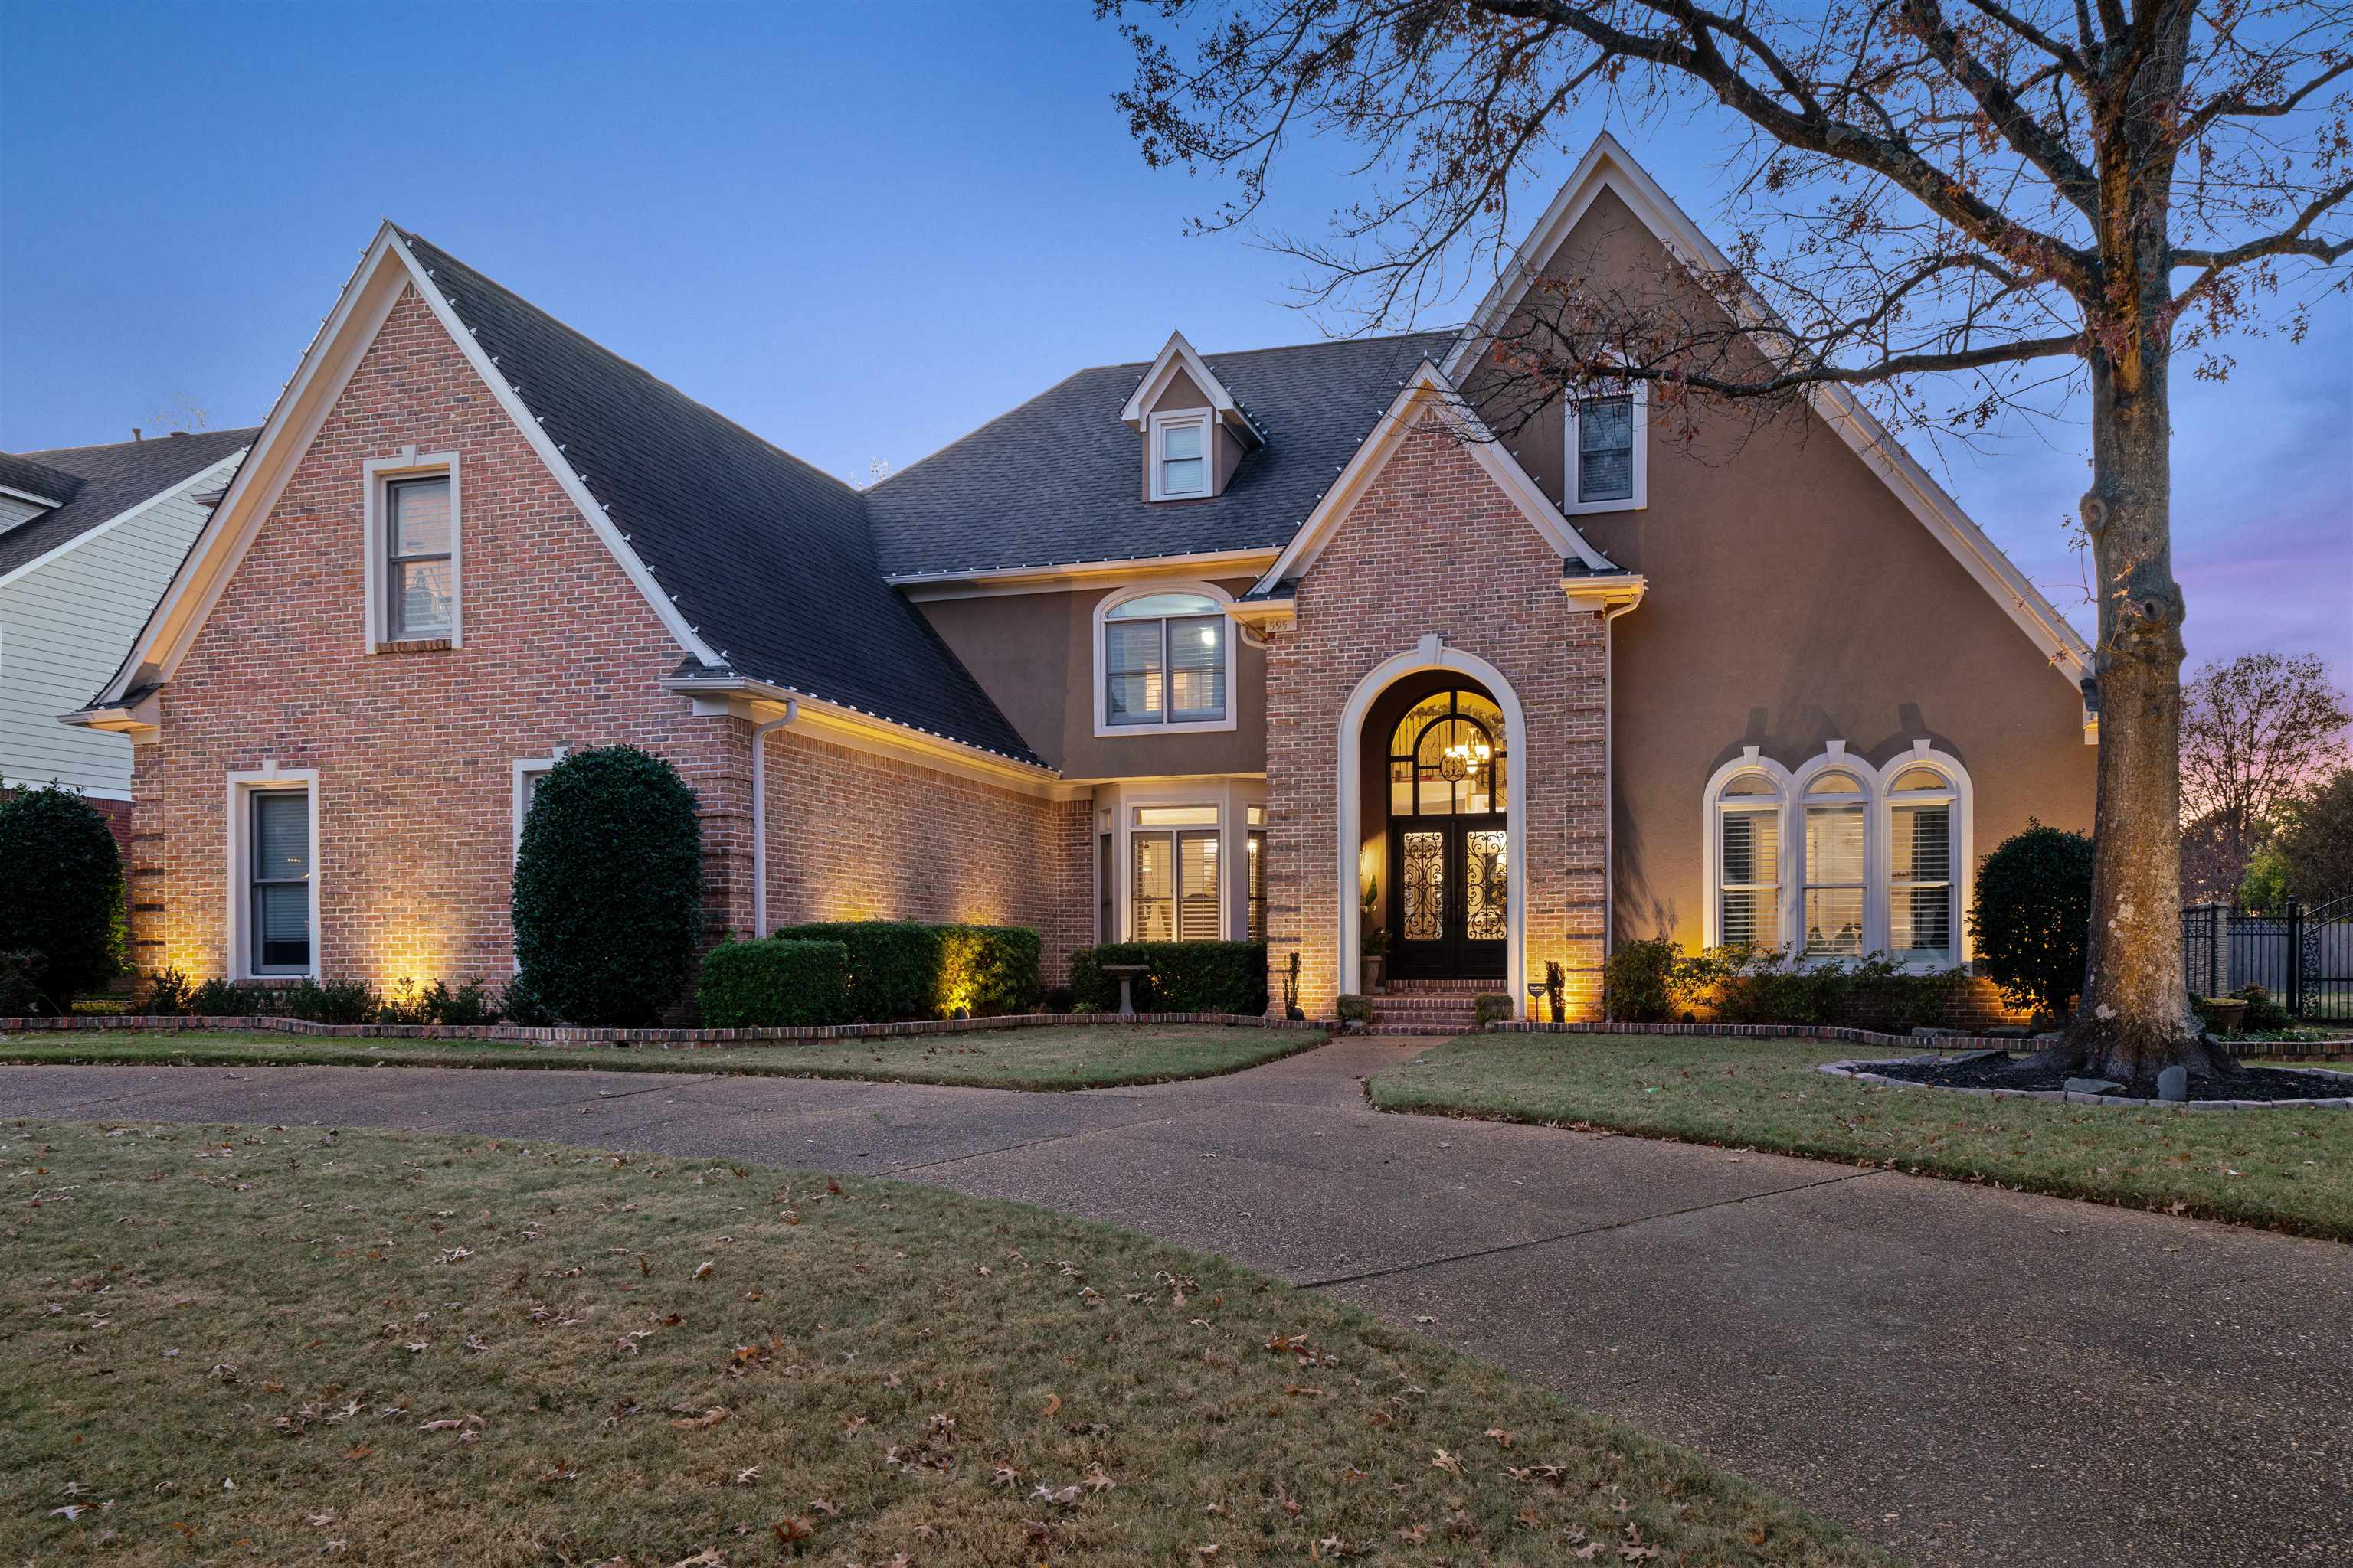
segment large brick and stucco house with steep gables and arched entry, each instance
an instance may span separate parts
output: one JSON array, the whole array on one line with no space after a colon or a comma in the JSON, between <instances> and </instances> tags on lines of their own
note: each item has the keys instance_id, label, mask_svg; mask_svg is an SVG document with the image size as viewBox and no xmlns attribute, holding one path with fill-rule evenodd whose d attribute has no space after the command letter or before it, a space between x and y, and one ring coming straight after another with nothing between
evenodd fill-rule
<instances>
[{"instance_id":1,"label":"large brick and stucco house with steep gables and arched entry","mask_svg":"<svg viewBox=\"0 0 2353 1568\"><path fill-rule=\"evenodd\" d=\"M1612 141L1544 268L1720 254ZM496 978L536 773L701 797L713 933L1266 936L1595 1006L1612 940L1967 954L2089 661L1845 393L1499 421L1412 334L1080 371L866 491L386 226L122 670L146 966ZM1275 990L1280 997L1280 985Z\"/></svg>"}]
</instances>

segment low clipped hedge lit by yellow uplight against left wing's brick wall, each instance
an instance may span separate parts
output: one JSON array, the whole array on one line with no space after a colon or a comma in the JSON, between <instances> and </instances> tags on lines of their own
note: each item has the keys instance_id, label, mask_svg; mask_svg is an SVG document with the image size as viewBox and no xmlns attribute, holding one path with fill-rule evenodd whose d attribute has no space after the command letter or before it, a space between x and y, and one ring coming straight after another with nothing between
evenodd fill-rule
<instances>
[{"instance_id":1,"label":"low clipped hedge lit by yellow uplight against left wing's brick wall","mask_svg":"<svg viewBox=\"0 0 2353 1568\"><path fill-rule=\"evenodd\" d=\"M1042 943L1024 926L833 919L776 936L849 950L847 1023L1028 1013L1045 994Z\"/></svg>"}]
</instances>

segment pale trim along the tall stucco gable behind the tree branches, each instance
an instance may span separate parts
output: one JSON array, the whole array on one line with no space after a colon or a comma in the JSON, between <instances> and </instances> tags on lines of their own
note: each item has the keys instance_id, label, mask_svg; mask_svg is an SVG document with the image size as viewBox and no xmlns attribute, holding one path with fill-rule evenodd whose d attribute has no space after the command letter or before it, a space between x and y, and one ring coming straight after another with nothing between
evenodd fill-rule
<instances>
[{"instance_id":1,"label":"pale trim along the tall stucco gable behind the tree branches","mask_svg":"<svg viewBox=\"0 0 2353 1568\"><path fill-rule=\"evenodd\" d=\"M1652 237L1666 247L1682 266L1729 273L1732 263L1715 247L1708 235L1692 223L1692 219L1675 207L1675 200L1649 176L1649 172L1633 160L1633 155L1619 146L1617 136L1602 132L1586 148L1586 155L1569 172L1567 183L1553 197L1553 205L1544 209L1537 228L1513 254L1511 266L1497 277L1487 299L1480 303L1478 315L1471 317L1471 327L1457 339L1454 350L1447 355L1447 376L1461 381L1468 369L1487 353L1494 334L1504 329L1504 322L1520 306L1527 294L1527 284L1544 268L1546 261L1562 247L1577 223L1593 207L1593 200L1602 190L1614 190L1621 202L1649 228ZM1753 327L1758 336L1772 336L1772 315L1765 310L1762 301L1751 299L1741 310L1741 322ZM1864 465L1871 468L1894 491L1897 501L1918 517L1937 541L1951 550L1953 559L1977 578L1977 585L1993 595L1993 602L2002 607L2005 614L2019 625L2026 637L2042 649L2052 668L2059 670L2071 686L2080 689L2080 682L2092 675L2092 649L2085 639L2068 625L2066 616L2042 597L2024 571L2019 571L2000 545L1995 545L1960 503L1953 501L1937 484L1934 477L1906 451L1878 421L1875 414L1864 404L1854 388L1838 383L1821 383L1807 388L1807 402L1821 414L1824 423L1838 433L1838 437L1852 449Z\"/></svg>"}]
</instances>

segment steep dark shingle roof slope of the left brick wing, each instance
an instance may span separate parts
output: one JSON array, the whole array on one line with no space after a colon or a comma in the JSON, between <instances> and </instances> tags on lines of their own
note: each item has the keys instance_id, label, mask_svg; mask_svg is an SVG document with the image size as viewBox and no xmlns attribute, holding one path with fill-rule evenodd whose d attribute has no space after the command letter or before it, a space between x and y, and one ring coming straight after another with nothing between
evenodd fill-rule
<instances>
[{"instance_id":1,"label":"steep dark shingle roof slope of the left brick wing","mask_svg":"<svg viewBox=\"0 0 2353 1568\"><path fill-rule=\"evenodd\" d=\"M736 675L1040 764L875 562L859 491L402 230L499 374Z\"/></svg>"}]
</instances>

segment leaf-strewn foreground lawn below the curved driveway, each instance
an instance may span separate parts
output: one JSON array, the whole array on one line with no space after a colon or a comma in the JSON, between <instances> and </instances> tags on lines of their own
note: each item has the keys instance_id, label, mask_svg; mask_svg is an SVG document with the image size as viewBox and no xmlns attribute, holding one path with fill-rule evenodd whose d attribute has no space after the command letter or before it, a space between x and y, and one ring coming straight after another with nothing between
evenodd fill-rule
<instances>
[{"instance_id":1,"label":"leaf-strewn foreground lawn below the curved driveway","mask_svg":"<svg viewBox=\"0 0 2353 1568\"><path fill-rule=\"evenodd\" d=\"M0 1140L9 1563L1880 1561L1358 1309L1035 1208L487 1138Z\"/></svg>"}]
</instances>

